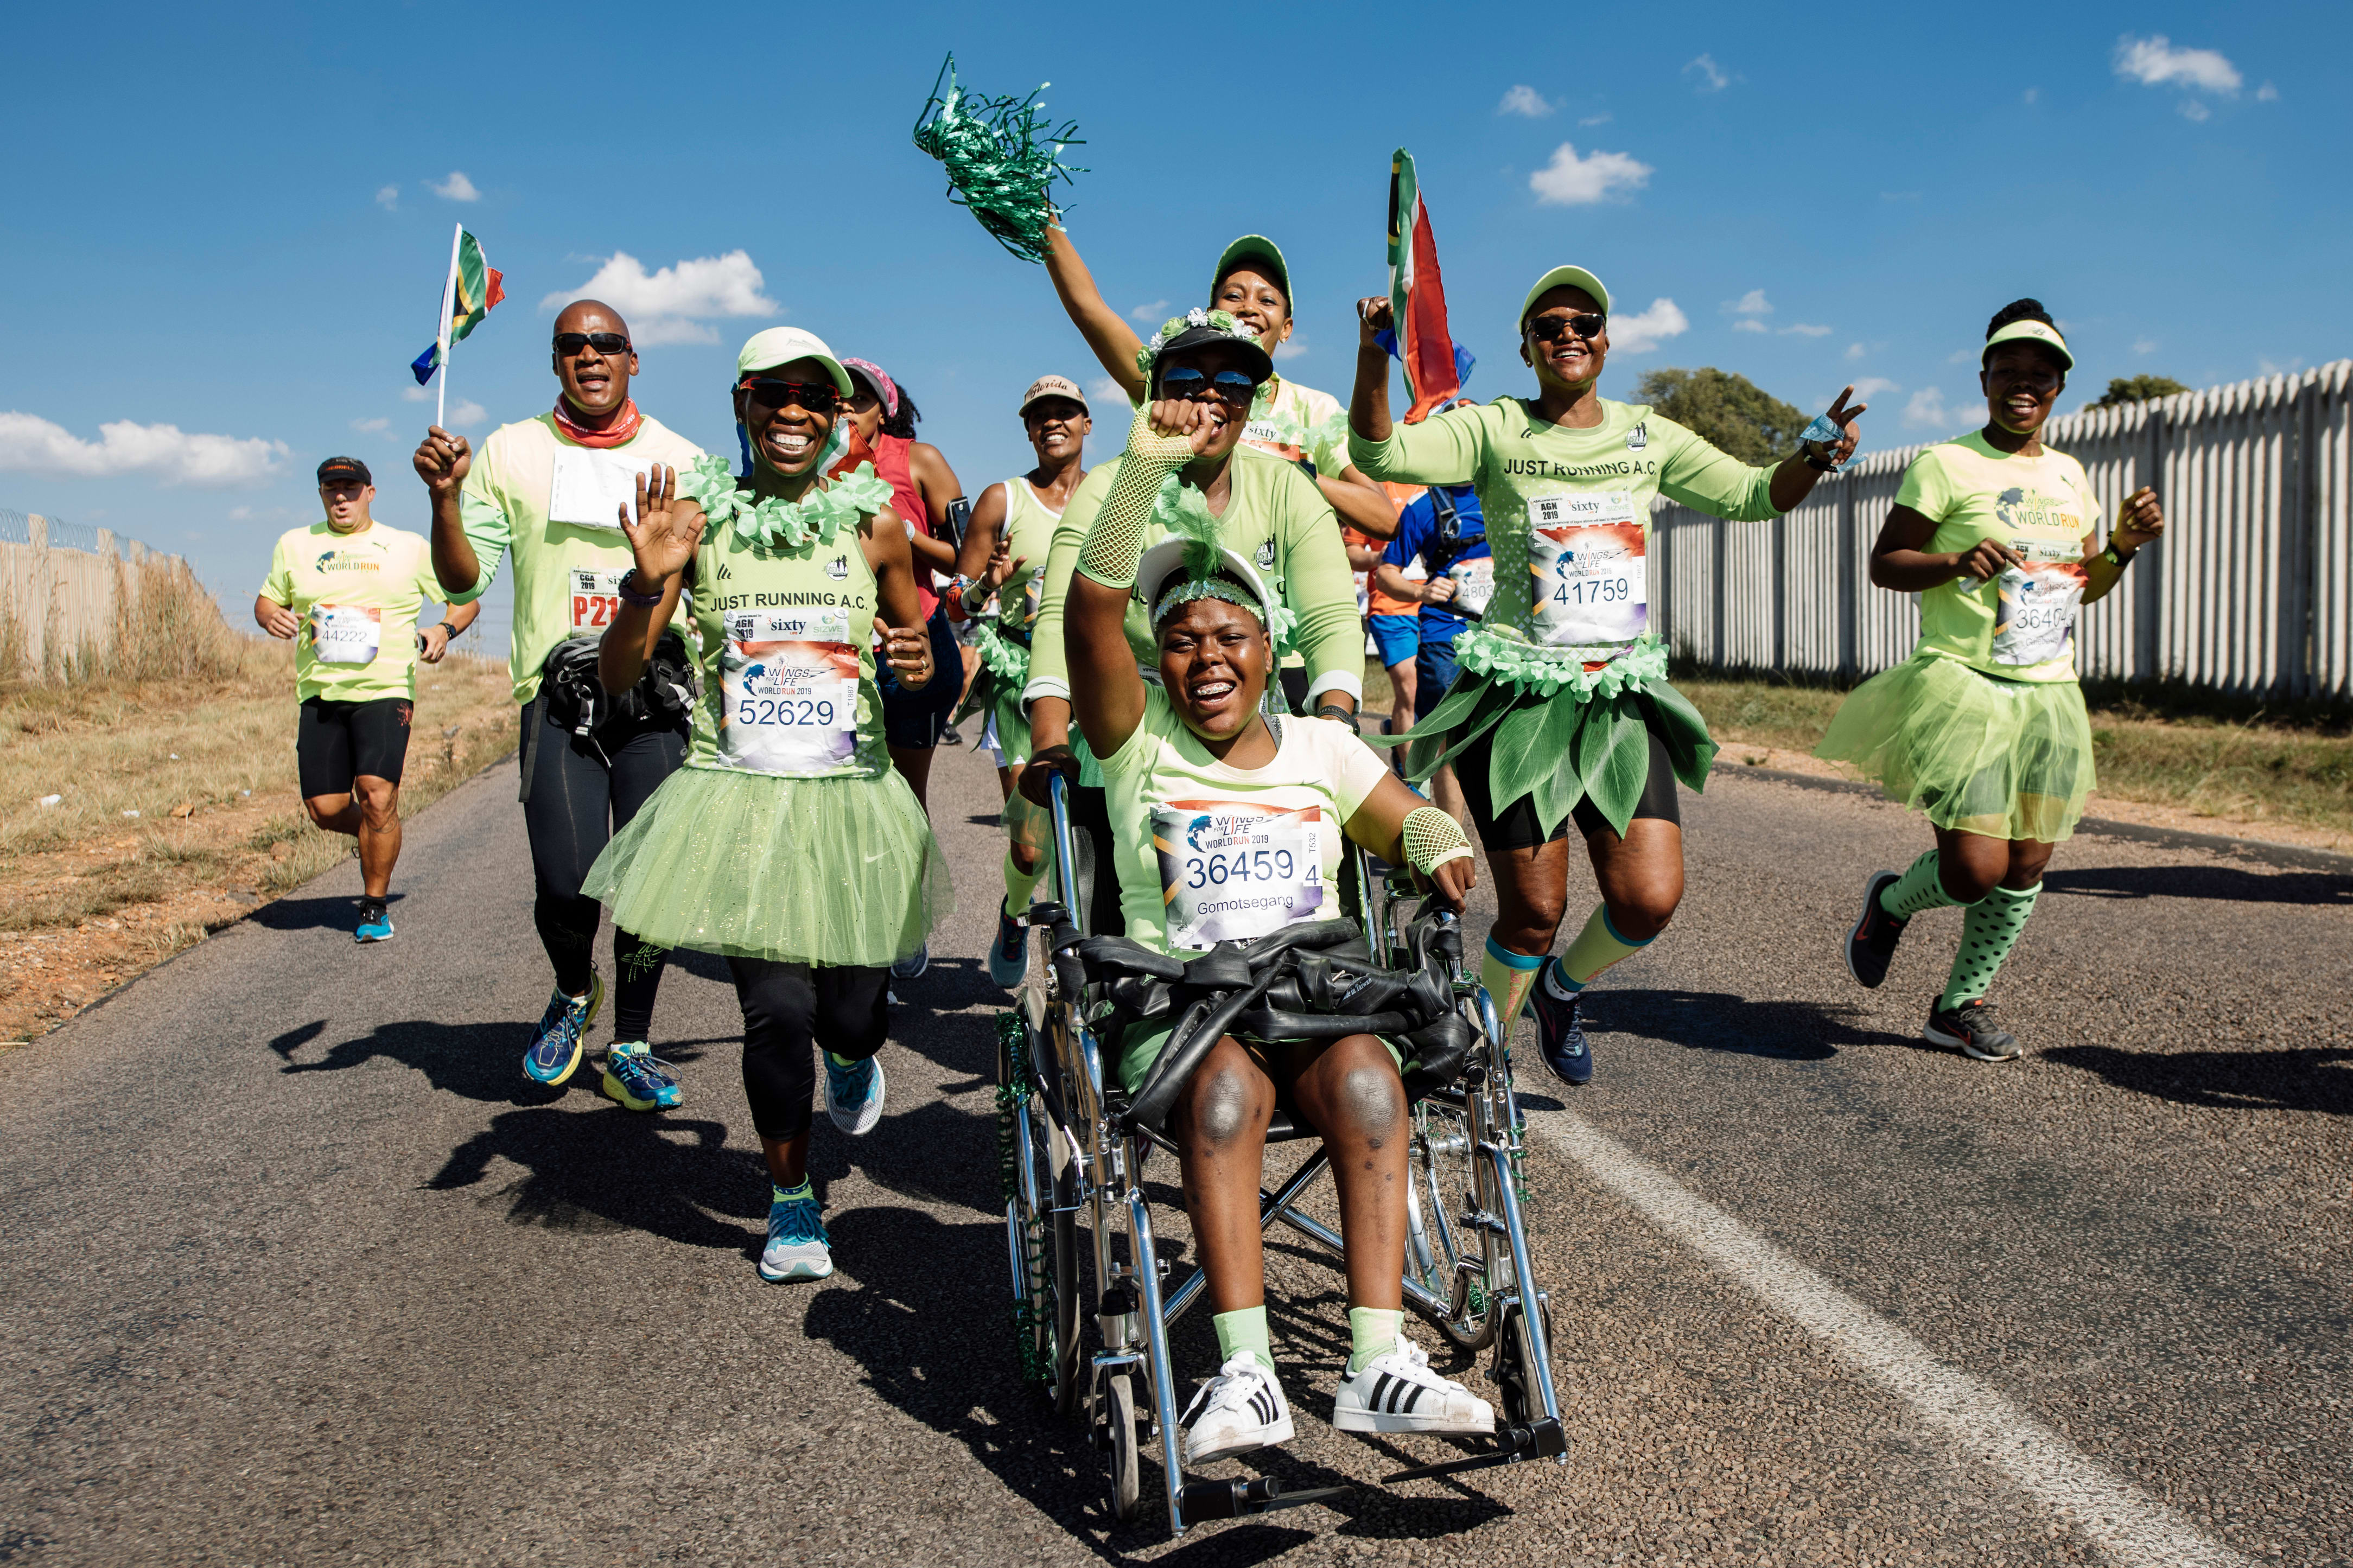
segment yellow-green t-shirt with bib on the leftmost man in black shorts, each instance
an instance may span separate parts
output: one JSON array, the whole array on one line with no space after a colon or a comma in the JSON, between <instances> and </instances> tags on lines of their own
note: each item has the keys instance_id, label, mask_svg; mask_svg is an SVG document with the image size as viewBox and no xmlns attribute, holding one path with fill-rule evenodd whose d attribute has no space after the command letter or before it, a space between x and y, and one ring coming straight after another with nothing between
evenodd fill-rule
<instances>
[{"instance_id":1,"label":"yellow-green t-shirt with bib on the leftmost man in black shorts","mask_svg":"<svg viewBox=\"0 0 2353 1568\"><path fill-rule=\"evenodd\" d=\"M381 522L336 534L325 520L278 536L261 597L304 618L294 689L329 703L414 701L416 611L449 602L424 534Z\"/></svg>"}]
</instances>

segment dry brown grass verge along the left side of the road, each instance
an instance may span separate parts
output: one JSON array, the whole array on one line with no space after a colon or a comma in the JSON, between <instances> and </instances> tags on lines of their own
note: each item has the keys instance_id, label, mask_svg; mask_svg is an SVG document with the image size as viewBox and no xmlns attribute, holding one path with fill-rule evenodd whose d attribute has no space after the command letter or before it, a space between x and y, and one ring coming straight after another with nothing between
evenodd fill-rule
<instances>
[{"instance_id":1,"label":"dry brown grass verge along the left side of the road","mask_svg":"<svg viewBox=\"0 0 2353 1568\"><path fill-rule=\"evenodd\" d=\"M89 679L0 682L0 1041L353 853L301 809L292 649L224 637L200 661L132 644ZM402 816L513 743L504 661L421 670Z\"/></svg>"}]
</instances>

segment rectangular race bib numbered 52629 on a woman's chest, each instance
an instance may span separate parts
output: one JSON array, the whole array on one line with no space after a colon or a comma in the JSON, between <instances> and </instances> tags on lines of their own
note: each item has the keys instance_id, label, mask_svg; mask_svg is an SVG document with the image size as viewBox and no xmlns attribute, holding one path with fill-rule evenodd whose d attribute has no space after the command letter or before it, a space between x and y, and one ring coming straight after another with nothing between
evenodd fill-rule
<instances>
[{"instance_id":1,"label":"rectangular race bib numbered 52629 on a woman's chest","mask_svg":"<svg viewBox=\"0 0 2353 1568\"><path fill-rule=\"evenodd\" d=\"M845 773L859 750L859 651L845 609L725 618L720 759L746 773Z\"/></svg>"}]
</instances>

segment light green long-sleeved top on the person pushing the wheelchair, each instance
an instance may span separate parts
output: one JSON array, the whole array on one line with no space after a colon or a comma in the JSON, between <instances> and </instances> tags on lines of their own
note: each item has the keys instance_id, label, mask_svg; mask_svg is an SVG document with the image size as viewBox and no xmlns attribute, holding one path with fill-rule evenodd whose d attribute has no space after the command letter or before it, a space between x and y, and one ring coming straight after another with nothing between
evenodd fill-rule
<instances>
[{"instance_id":1,"label":"light green long-sleeved top on the person pushing the wheelchair","mask_svg":"<svg viewBox=\"0 0 2353 1568\"><path fill-rule=\"evenodd\" d=\"M1226 548L1254 562L1259 576L1299 621L1292 625L1292 646L1306 656L1308 691L1344 691L1351 698L1365 693L1365 623L1355 616L1355 578L1348 571L1348 548L1339 538L1339 520L1325 501L1315 480L1306 477L1297 463L1235 447L1231 461L1233 487L1226 498L1226 515L1219 531ZM1054 524L1054 548L1045 564L1045 592L1038 602L1038 625L1031 642L1031 679L1021 701L1040 696L1071 696L1068 656L1061 646L1061 609L1071 592L1071 571L1078 567L1078 548L1087 543L1094 515L1104 510L1118 463L1101 463L1080 480ZM1167 529L1146 524L1144 548L1151 550ZM1153 630L1144 621L1144 607L1129 597L1127 646L1136 654L1136 665L1158 670L1160 649Z\"/></svg>"}]
</instances>

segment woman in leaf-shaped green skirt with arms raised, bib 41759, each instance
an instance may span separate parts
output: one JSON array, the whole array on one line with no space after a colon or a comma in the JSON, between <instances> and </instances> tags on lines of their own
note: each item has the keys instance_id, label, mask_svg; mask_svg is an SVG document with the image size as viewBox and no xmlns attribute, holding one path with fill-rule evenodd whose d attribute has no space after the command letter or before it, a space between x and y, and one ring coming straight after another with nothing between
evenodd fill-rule
<instances>
[{"instance_id":1,"label":"woman in leaf-shaped green skirt with arms raised, bib 41759","mask_svg":"<svg viewBox=\"0 0 2353 1568\"><path fill-rule=\"evenodd\" d=\"M1537 1011L1546 1067L1593 1077L1579 992L1647 945L1682 903L1675 780L1706 785L1715 745L1668 682L1649 618L1649 512L1668 496L1701 512L1786 512L1854 454L1854 388L1826 418L1838 437L1774 468L1725 456L1661 414L1600 395L1609 292L1553 268L1520 303L1520 360L1534 397L1388 421L1388 299L1358 306L1348 451L1374 480L1473 484L1487 515L1494 597L1454 644L1461 675L1405 738L1407 778L1454 764L1497 882L1482 980L1506 1027ZM1569 896L1569 825L1602 903L1546 964ZM1541 983L1539 980L1541 971Z\"/></svg>"}]
</instances>

